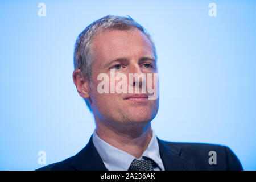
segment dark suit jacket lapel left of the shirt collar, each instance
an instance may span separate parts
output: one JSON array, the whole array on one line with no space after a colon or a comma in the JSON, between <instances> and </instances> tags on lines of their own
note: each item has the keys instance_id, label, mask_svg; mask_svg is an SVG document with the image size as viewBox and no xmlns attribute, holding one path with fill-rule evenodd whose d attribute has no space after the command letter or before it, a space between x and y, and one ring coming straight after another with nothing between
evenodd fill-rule
<instances>
[{"instance_id":1,"label":"dark suit jacket lapel left of the shirt collar","mask_svg":"<svg viewBox=\"0 0 256 182\"><path fill-rule=\"evenodd\" d=\"M92 136L88 144L77 153L71 166L81 171L107 171L100 155L98 154L94 144L92 142Z\"/></svg>"}]
</instances>

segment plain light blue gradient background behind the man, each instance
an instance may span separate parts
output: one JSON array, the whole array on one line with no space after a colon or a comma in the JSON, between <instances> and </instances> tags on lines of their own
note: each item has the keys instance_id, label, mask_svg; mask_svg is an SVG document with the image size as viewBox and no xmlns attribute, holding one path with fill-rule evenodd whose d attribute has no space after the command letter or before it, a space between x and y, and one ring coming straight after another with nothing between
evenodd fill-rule
<instances>
[{"instance_id":1,"label":"plain light blue gradient background behind the man","mask_svg":"<svg viewBox=\"0 0 256 182\"><path fill-rule=\"evenodd\" d=\"M46 17L38 4L46 4ZM209 3L217 17L209 17ZM130 15L155 40L160 139L229 146L256 169L255 1L0 1L0 169L34 170L79 152L94 130L72 81L79 33Z\"/></svg>"}]
</instances>

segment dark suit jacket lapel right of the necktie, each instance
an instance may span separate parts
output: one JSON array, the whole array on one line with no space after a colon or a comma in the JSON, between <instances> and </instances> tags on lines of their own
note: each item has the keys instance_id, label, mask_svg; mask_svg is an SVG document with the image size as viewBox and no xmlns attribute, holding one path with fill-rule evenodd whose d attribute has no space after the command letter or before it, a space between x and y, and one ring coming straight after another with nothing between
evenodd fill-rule
<instances>
[{"instance_id":1,"label":"dark suit jacket lapel right of the necktie","mask_svg":"<svg viewBox=\"0 0 256 182\"><path fill-rule=\"evenodd\" d=\"M195 170L195 164L181 156L181 147L157 139L160 157L166 171Z\"/></svg>"}]
</instances>

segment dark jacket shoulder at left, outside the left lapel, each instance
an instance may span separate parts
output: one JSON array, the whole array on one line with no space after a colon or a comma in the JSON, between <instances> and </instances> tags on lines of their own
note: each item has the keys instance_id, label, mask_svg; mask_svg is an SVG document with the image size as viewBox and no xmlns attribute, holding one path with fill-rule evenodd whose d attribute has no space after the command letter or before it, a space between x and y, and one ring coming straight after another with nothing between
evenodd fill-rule
<instances>
[{"instance_id":1,"label":"dark jacket shoulder at left, outside the left lapel","mask_svg":"<svg viewBox=\"0 0 256 182\"><path fill-rule=\"evenodd\" d=\"M73 171L76 169L73 168L71 165L72 160L73 160L73 156L61 162L49 164L42 168L36 169L36 171Z\"/></svg>"}]
</instances>

